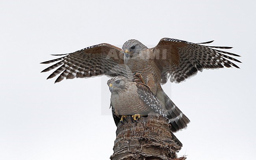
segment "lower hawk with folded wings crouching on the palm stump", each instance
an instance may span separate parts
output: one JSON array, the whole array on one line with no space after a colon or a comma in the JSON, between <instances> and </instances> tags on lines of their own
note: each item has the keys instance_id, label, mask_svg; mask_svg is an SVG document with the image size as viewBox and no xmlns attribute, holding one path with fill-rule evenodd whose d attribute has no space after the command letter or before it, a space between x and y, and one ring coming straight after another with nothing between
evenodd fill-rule
<instances>
[{"instance_id":1,"label":"lower hawk with folded wings crouching on the palm stump","mask_svg":"<svg viewBox=\"0 0 256 160\"><path fill-rule=\"evenodd\" d=\"M124 76L115 76L108 80L107 84L111 92L110 106L116 125L119 121L123 123L123 118L126 118L126 116L130 115L136 121L137 117L147 116L149 113L156 113L168 120L161 103L147 85L140 82L132 82ZM171 131L177 130L173 126L183 123L179 121L182 121L182 119L171 123ZM173 133L171 135L173 140L182 146L178 138Z\"/></svg>"}]
</instances>

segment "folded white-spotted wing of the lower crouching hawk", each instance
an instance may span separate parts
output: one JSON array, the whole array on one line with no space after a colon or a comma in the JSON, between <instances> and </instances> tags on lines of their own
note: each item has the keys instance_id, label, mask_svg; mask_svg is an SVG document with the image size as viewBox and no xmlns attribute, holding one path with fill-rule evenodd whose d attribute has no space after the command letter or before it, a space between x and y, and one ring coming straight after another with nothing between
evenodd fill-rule
<instances>
[{"instance_id":1,"label":"folded white-spotted wing of the lower crouching hawk","mask_svg":"<svg viewBox=\"0 0 256 160\"><path fill-rule=\"evenodd\" d=\"M158 113L168 120L168 117L163 110L161 103L159 102L158 98L156 98L156 96L150 91L149 87L142 83L137 83L136 86L138 88L137 91L139 97L145 102L145 105L148 105L151 107L152 111Z\"/></svg>"}]
</instances>

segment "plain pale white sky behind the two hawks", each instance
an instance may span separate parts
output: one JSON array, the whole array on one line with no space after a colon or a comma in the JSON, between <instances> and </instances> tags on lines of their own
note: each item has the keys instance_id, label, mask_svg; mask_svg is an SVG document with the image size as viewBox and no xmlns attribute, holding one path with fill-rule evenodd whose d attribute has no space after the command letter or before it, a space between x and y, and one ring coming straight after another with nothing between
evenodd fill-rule
<instances>
[{"instance_id":1,"label":"plain pale white sky behind the two hawks","mask_svg":"<svg viewBox=\"0 0 256 160\"><path fill-rule=\"evenodd\" d=\"M163 86L191 120L175 135L189 160L254 159L255 1L0 1L0 159L105 160L115 123L107 77L54 84L56 58L103 42L163 37L232 46L241 69L205 70ZM237 63L236 63L237 64Z\"/></svg>"}]
</instances>

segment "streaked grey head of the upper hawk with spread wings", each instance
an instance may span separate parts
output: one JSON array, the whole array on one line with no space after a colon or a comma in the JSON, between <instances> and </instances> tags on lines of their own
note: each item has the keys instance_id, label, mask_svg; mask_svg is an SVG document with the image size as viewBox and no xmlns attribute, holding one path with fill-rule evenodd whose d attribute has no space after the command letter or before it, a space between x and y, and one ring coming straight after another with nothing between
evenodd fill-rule
<instances>
[{"instance_id":1,"label":"streaked grey head of the upper hawk with spread wings","mask_svg":"<svg viewBox=\"0 0 256 160\"><path fill-rule=\"evenodd\" d=\"M124 50L124 55L126 56L126 58L128 58L139 55L141 51L148 49L148 47L146 47L138 40L128 40L124 43L122 49Z\"/></svg>"}]
</instances>

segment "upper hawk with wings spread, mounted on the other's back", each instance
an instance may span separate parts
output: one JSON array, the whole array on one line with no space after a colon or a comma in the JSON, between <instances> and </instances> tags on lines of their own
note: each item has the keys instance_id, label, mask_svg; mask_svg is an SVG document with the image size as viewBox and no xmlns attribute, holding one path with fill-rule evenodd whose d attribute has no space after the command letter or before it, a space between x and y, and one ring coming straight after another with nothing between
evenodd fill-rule
<instances>
[{"instance_id":1,"label":"upper hawk with wings spread, mounted on the other's back","mask_svg":"<svg viewBox=\"0 0 256 160\"><path fill-rule=\"evenodd\" d=\"M148 49L138 40L128 40L122 49L110 44L98 44L70 54L57 55L60 58L42 62L56 62L42 72L57 68L47 79L57 75L55 82L64 78L87 78L93 76L126 76L130 80L133 73L141 73L152 93L163 106L169 123L182 119L177 130L186 127L189 119L176 107L161 88L168 79L180 83L203 69L223 67L239 68L230 60L240 62L228 55L239 56L217 49L232 47L206 46L210 42L194 44L182 40L163 38L154 48ZM203 45L202 45L203 44Z\"/></svg>"}]
</instances>

